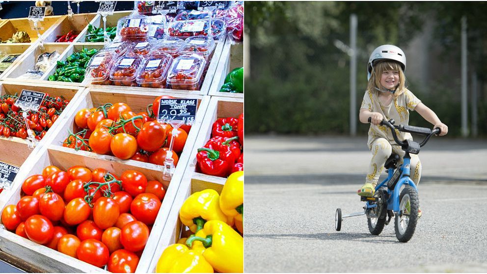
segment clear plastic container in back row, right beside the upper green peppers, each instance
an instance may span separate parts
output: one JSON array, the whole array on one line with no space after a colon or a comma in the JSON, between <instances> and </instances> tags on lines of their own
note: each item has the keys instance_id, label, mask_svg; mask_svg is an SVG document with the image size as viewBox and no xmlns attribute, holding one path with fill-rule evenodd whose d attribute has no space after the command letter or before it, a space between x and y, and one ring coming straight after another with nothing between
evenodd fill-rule
<instances>
[{"instance_id":1,"label":"clear plastic container in back row, right beside the upper green peppers","mask_svg":"<svg viewBox=\"0 0 487 274\"><path fill-rule=\"evenodd\" d=\"M123 41L143 41L149 36L150 19L145 15L129 15L122 17L117 23L117 36Z\"/></svg>"}]
</instances>

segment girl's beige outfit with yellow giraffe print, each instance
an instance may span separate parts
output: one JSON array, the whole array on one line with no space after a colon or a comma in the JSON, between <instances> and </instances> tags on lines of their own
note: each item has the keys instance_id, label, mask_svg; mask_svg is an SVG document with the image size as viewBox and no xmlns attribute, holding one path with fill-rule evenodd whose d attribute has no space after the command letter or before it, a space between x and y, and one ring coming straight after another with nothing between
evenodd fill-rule
<instances>
[{"instance_id":1,"label":"girl's beige outfit with yellow giraffe print","mask_svg":"<svg viewBox=\"0 0 487 274\"><path fill-rule=\"evenodd\" d=\"M421 100L414 96L411 91L406 89L398 98L393 99L389 106L384 106L380 102L377 93L378 92L366 91L360 108L371 112L379 112L386 120L394 119L396 121L395 125L408 125L408 110L414 110L414 108L421 102ZM400 140L412 140L410 133L399 132L396 129L396 134ZM405 152L396 144L389 128L386 128L386 126L376 126L372 123L370 124L367 145L373 156L370 161L366 182L376 186L379 181L380 173L384 170L385 161L391 156L391 153L394 151L398 154L402 164ZM410 154L410 156L411 179L418 185L419 180L421 179L421 162L419 161L418 155Z\"/></svg>"}]
</instances>

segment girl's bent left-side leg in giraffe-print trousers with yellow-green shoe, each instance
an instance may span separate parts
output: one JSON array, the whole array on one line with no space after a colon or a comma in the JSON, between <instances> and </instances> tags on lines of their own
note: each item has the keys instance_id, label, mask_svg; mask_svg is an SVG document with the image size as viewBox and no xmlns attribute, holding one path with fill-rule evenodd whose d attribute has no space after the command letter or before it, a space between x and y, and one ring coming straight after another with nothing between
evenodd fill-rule
<instances>
[{"instance_id":1,"label":"girl's bent left-side leg in giraffe-print trousers with yellow-green shoe","mask_svg":"<svg viewBox=\"0 0 487 274\"><path fill-rule=\"evenodd\" d=\"M391 156L392 146L385 138L378 138L372 142L371 152L372 159L370 160L369 171L365 178L365 185L358 191L360 196L374 195L380 173L384 170L385 161Z\"/></svg>"}]
</instances>

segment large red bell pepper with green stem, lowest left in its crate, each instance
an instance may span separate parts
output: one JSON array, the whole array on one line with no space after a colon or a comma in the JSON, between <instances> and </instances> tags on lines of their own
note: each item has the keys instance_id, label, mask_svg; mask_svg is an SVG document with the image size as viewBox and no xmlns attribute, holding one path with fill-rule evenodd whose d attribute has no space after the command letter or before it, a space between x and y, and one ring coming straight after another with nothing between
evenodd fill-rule
<instances>
[{"instance_id":1,"label":"large red bell pepper with green stem, lowest left in its crate","mask_svg":"<svg viewBox=\"0 0 487 274\"><path fill-rule=\"evenodd\" d=\"M235 163L235 155L229 146L211 142L198 149L196 162L204 174L227 177Z\"/></svg>"}]
</instances>

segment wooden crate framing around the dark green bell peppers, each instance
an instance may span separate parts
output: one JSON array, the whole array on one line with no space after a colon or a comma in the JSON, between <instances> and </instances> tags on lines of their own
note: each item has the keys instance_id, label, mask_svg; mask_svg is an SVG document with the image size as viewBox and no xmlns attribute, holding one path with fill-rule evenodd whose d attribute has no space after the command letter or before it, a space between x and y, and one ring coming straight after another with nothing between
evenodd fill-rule
<instances>
[{"instance_id":1,"label":"wooden crate framing around the dark green bell peppers","mask_svg":"<svg viewBox=\"0 0 487 274\"><path fill-rule=\"evenodd\" d=\"M243 98L243 93L230 93L230 92L220 92L220 88L225 82L225 77L234 68L243 67L243 43L238 43L232 45L229 39L227 39L223 51L221 53L220 61L218 62L218 67L216 68L217 73L213 79L212 85L210 87L211 96L221 96L230 98Z\"/></svg>"}]
</instances>

